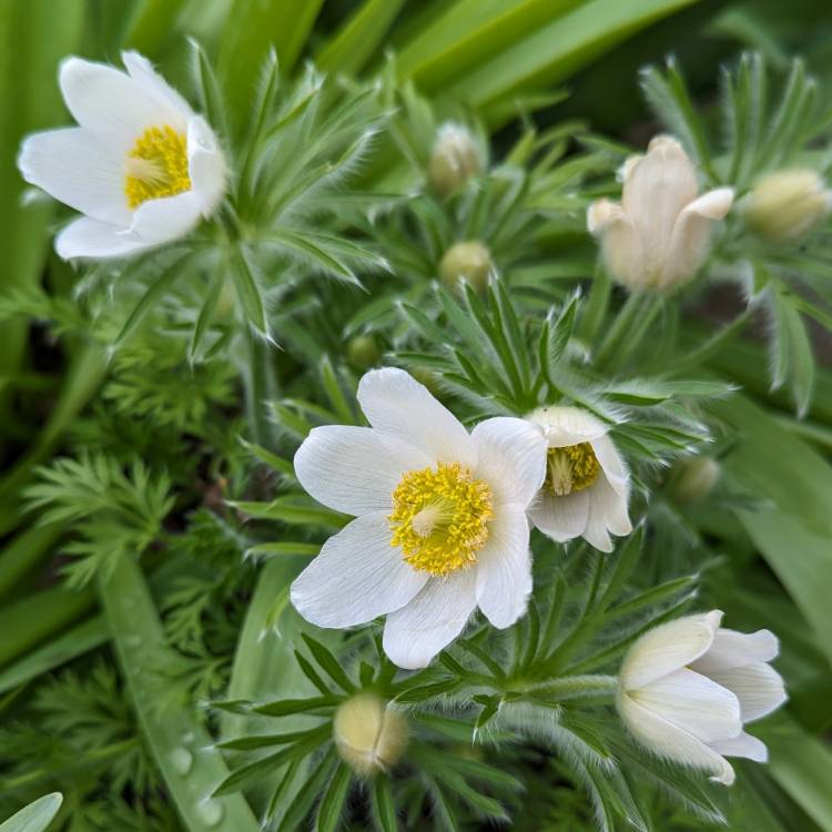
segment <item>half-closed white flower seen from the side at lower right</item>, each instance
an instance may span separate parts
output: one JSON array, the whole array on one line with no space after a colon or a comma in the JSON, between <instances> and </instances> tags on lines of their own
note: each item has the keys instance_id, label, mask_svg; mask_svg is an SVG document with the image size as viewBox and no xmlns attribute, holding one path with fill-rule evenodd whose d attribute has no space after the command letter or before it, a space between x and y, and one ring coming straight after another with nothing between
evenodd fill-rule
<instances>
[{"instance_id":1,"label":"half-closed white flower seen from the side at lower right","mask_svg":"<svg viewBox=\"0 0 832 832\"><path fill-rule=\"evenodd\" d=\"M707 769L730 785L723 754L765 762L765 745L745 733L785 701L778 655L768 630L720 628L713 610L660 625L630 648L619 676L618 711L633 737L655 753Z\"/></svg>"}]
</instances>

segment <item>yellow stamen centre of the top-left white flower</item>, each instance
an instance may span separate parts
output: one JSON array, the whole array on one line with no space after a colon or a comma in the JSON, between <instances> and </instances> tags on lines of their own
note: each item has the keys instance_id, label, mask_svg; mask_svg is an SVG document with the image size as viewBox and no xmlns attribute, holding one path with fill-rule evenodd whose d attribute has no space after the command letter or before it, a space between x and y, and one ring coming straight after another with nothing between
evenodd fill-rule
<instances>
[{"instance_id":1,"label":"yellow stamen centre of the top-left white flower","mask_svg":"<svg viewBox=\"0 0 832 832\"><path fill-rule=\"evenodd\" d=\"M148 128L128 154L124 194L130 207L190 190L185 134L169 124Z\"/></svg>"}]
</instances>

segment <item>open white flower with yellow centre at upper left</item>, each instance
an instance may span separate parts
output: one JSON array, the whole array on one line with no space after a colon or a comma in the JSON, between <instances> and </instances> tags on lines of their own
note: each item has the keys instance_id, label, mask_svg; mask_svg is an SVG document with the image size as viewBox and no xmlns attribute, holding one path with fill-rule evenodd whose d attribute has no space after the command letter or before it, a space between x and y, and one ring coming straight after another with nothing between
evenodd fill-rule
<instances>
[{"instance_id":1,"label":"open white flower with yellow centre at upper left","mask_svg":"<svg viewBox=\"0 0 832 832\"><path fill-rule=\"evenodd\" d=\"M219 205L225 162L214 133L149 61L128 71L68 58L59 80L80 126L28 136L27 180L84 216L55 240L70 257L121 257L187 234Z\"/></svg>"}]
</instances>

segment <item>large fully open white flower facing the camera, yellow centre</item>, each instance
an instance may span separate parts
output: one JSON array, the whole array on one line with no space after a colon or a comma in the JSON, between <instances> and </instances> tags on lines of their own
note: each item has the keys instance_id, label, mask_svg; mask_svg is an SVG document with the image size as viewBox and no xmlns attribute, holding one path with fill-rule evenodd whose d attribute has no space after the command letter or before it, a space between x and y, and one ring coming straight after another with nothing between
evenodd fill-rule
<instances>
[{"instance_id":1,"label":"large fully open white flower facing the camera, yellow centre","mask_svg":"<svg viewBox=\"0 0 832 832\"><path fill-rule=\"evenodd\" d=\"M546 445L524 419L469 434L400 369L358 385L372 427L317 427L295 473L319 503L356 516L292 585L292 603L318 627L386 615L384 649L426 667L479 607L498 628L526 610L531 555L526 508L544 479Z\"/></svg>"}]
</instances>

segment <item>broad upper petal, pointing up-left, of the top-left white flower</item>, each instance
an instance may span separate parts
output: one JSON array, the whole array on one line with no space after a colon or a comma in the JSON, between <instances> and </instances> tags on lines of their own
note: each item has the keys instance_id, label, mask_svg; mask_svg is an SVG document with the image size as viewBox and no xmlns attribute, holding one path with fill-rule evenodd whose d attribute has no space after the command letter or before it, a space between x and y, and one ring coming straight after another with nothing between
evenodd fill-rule
<instances>
[{"instance_id":1,"label":"broad upper petal, pointing up-left, of the top-left white flower","mask_svg":"<svg viewBox=\"0 0 832 832\"><path fill-rule=\"evenodd\" d=\"M187 129L186 113L114 67L68 58L60 84L75 121L119 153L128 153L148 128Z\"/></svg>"}]
</instances>

